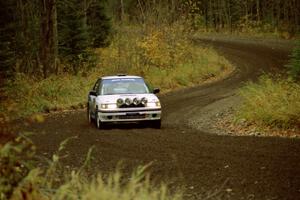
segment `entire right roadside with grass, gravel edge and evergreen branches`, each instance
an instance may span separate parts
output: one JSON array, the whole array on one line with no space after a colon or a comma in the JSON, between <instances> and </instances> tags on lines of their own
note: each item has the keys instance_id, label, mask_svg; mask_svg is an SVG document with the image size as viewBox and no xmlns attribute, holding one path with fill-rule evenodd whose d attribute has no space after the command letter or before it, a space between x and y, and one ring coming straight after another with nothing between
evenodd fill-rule
<instances>
[{"instance_id":1,"label":"entire right roadside with grass, gravel edge and evergreen branches","mask_svg":"<svg viewBox=\"0 0 300 200\"><path fill-rule=\"evenodd\" d=\"M246 83L241 104L218 119L218 127L234 135L300 137L300 41L286 70Z\"/></svg>"}]
</instances>

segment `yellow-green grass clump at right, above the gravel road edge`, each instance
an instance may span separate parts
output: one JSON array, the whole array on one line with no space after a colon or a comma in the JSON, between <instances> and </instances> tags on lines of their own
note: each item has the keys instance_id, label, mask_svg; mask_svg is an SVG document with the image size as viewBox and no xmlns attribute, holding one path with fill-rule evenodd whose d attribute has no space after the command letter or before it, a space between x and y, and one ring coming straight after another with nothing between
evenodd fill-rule
<instances>
[{"instance_id":1,"label":"yellow-green grass clump at right, above the gravel road edge","mask_svg":"<svg viewBox=\"0 0 300 200\"><path fill-rule=\"evenodd\" d=\"M300 85L291 80L262 76L258 83L248 83L241 90L243 104L238 120L259 126L291 128L300 125Z\"/></svg>"}]
</instances>

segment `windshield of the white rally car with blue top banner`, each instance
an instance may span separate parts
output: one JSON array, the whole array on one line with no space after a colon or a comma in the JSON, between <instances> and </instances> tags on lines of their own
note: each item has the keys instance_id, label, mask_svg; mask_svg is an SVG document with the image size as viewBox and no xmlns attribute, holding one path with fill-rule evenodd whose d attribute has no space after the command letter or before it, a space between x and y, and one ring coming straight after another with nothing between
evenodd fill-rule
<instances>
[{"instance_id":1,"label":"windshield of the white rally car with blue top banner","mask_svg":"<svg viewBox=\"0 0 300 200\"><path fill-rule=\"evenodd\" d=\"M104 79L101 84L102 95L145 94L149 89L142 78Z\"/></svg>"}]
</instances>

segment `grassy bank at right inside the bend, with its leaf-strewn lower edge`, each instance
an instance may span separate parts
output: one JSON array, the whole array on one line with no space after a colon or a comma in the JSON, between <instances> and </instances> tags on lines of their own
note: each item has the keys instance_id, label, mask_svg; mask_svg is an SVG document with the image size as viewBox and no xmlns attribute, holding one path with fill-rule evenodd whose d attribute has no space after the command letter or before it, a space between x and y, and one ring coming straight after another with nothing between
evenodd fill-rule
<instances>
[{"instance_id":1,"label":"grassy bank at right inside the bend, with its leaf-strewn lower edge","mask_svg":"<svg viewBox=\"0 0 300 200\"><path fill-rule=\"evenodd\" d=\"M300 85L297 82L262 76L257 83L250 82L241 88L240 95L243 102L235 112L234 131L300 136Z\"/></svg>"}]
</instances>

